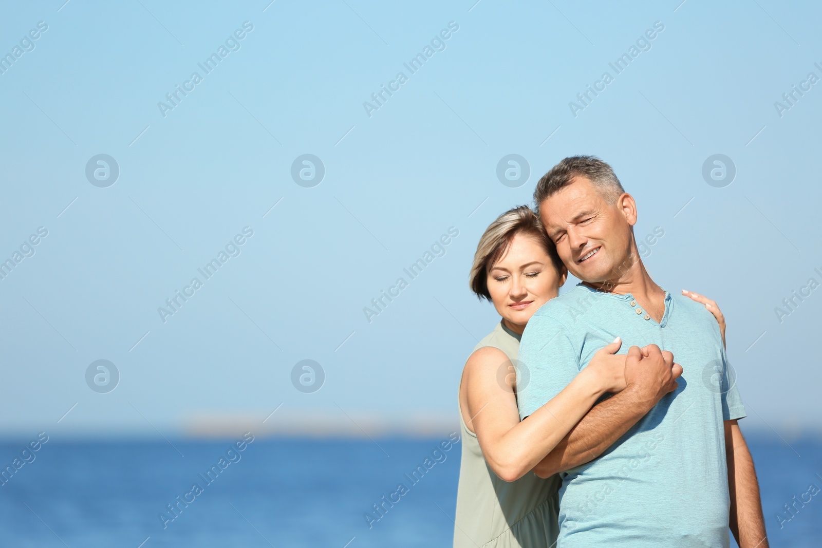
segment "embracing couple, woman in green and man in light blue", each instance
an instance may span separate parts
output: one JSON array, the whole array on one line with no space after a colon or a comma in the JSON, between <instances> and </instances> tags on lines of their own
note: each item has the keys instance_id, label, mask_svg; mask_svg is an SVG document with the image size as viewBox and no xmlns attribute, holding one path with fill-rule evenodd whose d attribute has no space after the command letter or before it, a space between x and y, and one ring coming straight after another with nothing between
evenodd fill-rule
<instances>
[{"instance_id":1,"label":"embracing couple, woman in green and man in light blue","mask_svg":"<svg viewBox=\"0 0 822 548\"><path fill-rule=\"evenodd\" d=\"M607 163L562 160L534 203L474 256L502 319L459 386L454 546L715 547L730 528L767 548L716 303L653 282ZM568 272L582 283L558 297Z\"/></svg>"}]
</instances>

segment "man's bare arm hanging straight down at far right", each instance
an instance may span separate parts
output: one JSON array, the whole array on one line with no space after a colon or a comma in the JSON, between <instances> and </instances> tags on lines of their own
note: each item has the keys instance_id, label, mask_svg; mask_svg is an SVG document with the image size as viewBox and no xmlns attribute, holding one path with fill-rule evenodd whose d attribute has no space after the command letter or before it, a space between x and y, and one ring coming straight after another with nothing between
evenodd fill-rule
<instances>
[{"instance_id":1,"label":"man's bare arm hanging straight down at far right","mask_svg":"<svg viewBox=\"0 0 822 548\"><path fill-rule=\"evenodd\" d=\"M725 421L725 454L733 537L740 548L768 548L754 459L736 420Z\"/></svg>"}]
</instances>

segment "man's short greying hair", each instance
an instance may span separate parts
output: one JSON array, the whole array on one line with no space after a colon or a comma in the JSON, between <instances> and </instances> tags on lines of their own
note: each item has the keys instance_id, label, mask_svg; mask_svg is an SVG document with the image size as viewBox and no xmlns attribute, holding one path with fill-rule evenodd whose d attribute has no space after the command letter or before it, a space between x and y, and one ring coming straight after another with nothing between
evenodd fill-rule
<instances>
[{"instance_id":1,"label":"man's short greying hair","mask_svg":"<svg viewBox=\"0 0 822 548\"><path fill-rule=\"evenodd\" d=\"M570 185L575 177L587 177L609 204L614 204L625 192L617 174L601 159L596 156L569 156L551 168L537 183L537 188L533 191L533 203L537 206L537 212L539 213L539 206L546 198Z\"/></svg>"}]
</instances>

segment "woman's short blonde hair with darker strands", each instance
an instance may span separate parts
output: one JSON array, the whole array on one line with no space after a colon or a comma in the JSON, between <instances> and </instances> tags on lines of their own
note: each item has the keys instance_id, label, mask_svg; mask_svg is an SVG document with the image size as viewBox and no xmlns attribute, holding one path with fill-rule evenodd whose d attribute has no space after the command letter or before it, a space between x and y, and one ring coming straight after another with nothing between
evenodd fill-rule
<instances>
[{"instance_id":1,"label":"woman's short blonde hair with darker strands","mask_svg":"<svg viewBox=\"0 0 822 548\"><path fill-rule=\"evenodd\" d=\"M565 268L556 254L556 247L543 228L537 214L527 205L508 210L488 225L483 237L479 238L477 252L473 255L473 265L469 276L469 287L479 299L491 300L488 292L488 270L505 254L510 242L517 234L529 234L543 244L557 272Z\"/></svg>"}]
</instances>

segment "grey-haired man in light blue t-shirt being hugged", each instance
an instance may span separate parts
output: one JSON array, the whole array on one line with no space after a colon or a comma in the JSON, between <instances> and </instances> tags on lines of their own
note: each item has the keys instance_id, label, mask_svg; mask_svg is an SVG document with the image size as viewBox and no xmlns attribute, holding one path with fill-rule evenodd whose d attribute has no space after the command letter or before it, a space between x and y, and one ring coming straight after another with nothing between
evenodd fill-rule
<instances>
[{"instance_id":1,"label":"grey-haired man in light blue t-shirt being hugged","mask_svg":"<svg viewBox=\"0 0 822 548\"><path fill-rule=\"evenodd\" d=\"M727 547L729 526L741 548L767 548L753 460L737 425L745 408L727 383L711 313L653 282L634 238L635 201L607 163L562 160L540 179L534 201L563 263L583 282L525 328L520 362L530 381L518 394L520 417L617 336L621 352L656 344L684 368L677 389L600 458L562 473L558 548Z\"/></svg>"}]
</instances>

